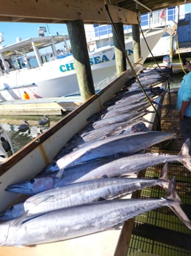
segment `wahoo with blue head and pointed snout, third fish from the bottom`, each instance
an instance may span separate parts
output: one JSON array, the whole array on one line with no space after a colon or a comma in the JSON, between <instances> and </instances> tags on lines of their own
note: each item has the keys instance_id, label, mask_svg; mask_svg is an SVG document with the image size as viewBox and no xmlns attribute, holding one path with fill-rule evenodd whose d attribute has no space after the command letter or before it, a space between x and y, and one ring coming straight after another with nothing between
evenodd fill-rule
<instances>
[{"instance_id":1,"label":"wahoo with blue head and pointed snout, third fish from the bottom","mask_svg":"<svg viewBox=\"0 0 191 256\"><path fill-rule=\"evenodd\" d=\"M66 186L70 183L78 183L85 180L94 180L98 178L123 177L135 174L149 166L161 163L170 163L178 161L182 163L189 171L191 171L190 163L190 140L188 139L181 147L178 155L171 154L134 154L128 157L121 157L111 160L108 163L91 168L92 161L70 166L64 169L63 177L36 177L26 180L23 183L13 184L6 188L7 191L20 194L37 194L52 188ZM98 164L93 162L94 164Z\"/></svg>"}]
</instances>

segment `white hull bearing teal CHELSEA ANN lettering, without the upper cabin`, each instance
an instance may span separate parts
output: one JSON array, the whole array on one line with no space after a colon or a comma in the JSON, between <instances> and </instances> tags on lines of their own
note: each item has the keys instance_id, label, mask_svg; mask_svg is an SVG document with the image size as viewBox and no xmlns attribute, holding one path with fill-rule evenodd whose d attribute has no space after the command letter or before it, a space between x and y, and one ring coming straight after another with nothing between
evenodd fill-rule
<instances>
[{"instance_id":1,"label":"white hull bearing teal CHELSEA ANN lettering, without the upper cabin","mask_svg":"<svg viewBox=\"0 0 191 256\"><path fill-rule=\"evenodd\" d=\"M164 30L150 32L146 35L147 44L153 49ZM133 42L126 42L127 55L133 63ZM147 59L149 50L141 38L141 63ZM96 90L101 90L116 78L114 47L101 47L89 53L93 82ZM128 68L128 63L127 63ZM30 99L41 97L59 97L80 93L73 56L64 56L46 62L38 68L10 71L0 77L0 99L22 99L26 91Z\"/></svg>"}]
</instances>

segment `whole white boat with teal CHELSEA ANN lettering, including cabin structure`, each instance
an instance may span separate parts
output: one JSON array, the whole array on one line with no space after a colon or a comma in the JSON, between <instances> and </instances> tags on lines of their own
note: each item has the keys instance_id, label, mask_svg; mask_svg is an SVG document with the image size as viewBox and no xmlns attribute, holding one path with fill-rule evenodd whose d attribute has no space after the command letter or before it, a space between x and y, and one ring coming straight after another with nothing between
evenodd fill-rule
<instances>
[{"instance_id":1,"label":"whole white boat with teal CHELSEA ANN lettering, including cabin structure","mask_svg":"<svg viewBox=\"0 0 191 256\"><path fill-rule=\"evenodd\" d=\"M164 30L151 30L145 35L147 44L153 49ZM62 36L64 42L64 36ZM57 56L55 42L61 42L61 36L43 36L16 42L2 47L0 57L4 70L0 76L0 99L22 99L24 92L30 99L41 97L59 97L79 93L73 55L68 53ZM40 50L42 47L52 47L53 60L42 63ZM133 62L133 41L125 42L130 62ZM27 53L34 52L38 67L32 68ZM141 37L141 63L143 64L150 51ZM116 77L115 54L113 46L100 47L89 53L93 81L96 90L105 87ZM25 62L19 62L19 57ZM9 65L6 63L9 61ZM19 62L19 66L18 66ZM17 66L17 67L16 67Z\"/></svg>"}]
</instances>

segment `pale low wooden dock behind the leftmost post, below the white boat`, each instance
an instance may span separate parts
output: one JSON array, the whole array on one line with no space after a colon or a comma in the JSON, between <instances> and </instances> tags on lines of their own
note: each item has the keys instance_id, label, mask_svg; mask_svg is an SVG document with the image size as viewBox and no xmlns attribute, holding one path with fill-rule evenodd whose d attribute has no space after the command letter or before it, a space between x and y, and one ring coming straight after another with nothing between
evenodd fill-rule
<instances>
[{"instance_id":1,"label":"pale low wooden dock behind the leftmost post, below the white boat","mask_svg":"<svg viewBox=\"0 0 191 256\"><path fill-rule=\"evenodd\" d=\"M0 102L0 115L61 115L81 105L80 96L58 98L17 99Z\"/></svg>"}]
</instances>

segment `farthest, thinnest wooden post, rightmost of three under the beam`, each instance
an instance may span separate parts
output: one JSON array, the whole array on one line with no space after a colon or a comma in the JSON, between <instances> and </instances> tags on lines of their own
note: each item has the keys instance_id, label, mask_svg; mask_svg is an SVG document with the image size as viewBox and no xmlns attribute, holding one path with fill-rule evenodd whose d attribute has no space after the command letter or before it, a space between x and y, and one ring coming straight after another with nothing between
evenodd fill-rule
<instances>
[{"instance_id":1,"label":"farthest, thinnest wooden post, rightmost of three under the beam","mask_svg":"<svg viewBox=\"0 0 191 256\"><path fill-rule=\"evenodd\" d=\"M132 25L133 32L133 58L137 62L141 58L140 32L138 24Z\"/></svg>"}]
</instances>

